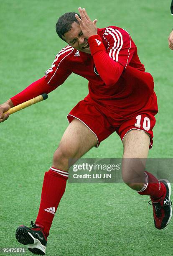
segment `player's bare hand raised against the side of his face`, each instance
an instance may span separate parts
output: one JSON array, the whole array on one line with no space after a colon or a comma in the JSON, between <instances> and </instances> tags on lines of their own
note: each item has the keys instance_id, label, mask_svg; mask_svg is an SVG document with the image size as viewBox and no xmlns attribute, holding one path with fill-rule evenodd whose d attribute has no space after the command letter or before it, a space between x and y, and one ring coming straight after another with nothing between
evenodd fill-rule
<instances>
[{"instance_id":1,"label":"player's bare hand raised against the side of his face","mask_svg":"<svg viewBox=\"0 0 173 256\"><path fill-rule=\"evenodd\" d=\"M76 19L79 21L79 24L81 26L81 31L86 39L88 39L90 36L97 35L97 20L90 20L89 16L86 13L85 8L78 8L79 13L81 15L81 19L76 14Z\"/></svg>"}]
</instances>

